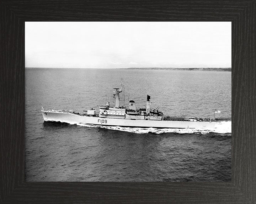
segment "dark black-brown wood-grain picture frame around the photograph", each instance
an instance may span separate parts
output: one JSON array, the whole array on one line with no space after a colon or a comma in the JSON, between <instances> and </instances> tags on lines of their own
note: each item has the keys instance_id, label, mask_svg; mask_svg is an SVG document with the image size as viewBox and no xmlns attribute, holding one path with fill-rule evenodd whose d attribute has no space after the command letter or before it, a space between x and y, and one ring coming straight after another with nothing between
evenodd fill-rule
<instances>
[{"instance_id":1,"label":"dark black-brown wood-grain picture frame around the photograph","mask_svg":"<svg viewBox=\"0 0 256 204\"><path fill-rule=\"evenodd\" d=\"M0 2L1 203L256 203L256 0ZM25 182L25 21L231 21L231 182Z\"/></svg>"}]
</instances>

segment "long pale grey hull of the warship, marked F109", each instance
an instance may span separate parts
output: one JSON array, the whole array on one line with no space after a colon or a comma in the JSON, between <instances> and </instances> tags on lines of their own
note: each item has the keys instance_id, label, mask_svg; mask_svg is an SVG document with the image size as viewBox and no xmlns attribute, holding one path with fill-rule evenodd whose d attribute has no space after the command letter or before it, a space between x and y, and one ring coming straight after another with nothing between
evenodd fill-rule
<instances>
[{"instance_id":1,"label":"long pale grey hull of the warship, marked F109","mask_svg":"<svg viewBox=\"0 0 256 204\"><path fill-rule=\"evenodd\" d=\"M73 113L41 111L44 121L60 121L70 124L88 124L137 128L194 128L213 129L215 121L170 121L170 120L132 120L81 116Z\"/></svg>"}]
</instances>

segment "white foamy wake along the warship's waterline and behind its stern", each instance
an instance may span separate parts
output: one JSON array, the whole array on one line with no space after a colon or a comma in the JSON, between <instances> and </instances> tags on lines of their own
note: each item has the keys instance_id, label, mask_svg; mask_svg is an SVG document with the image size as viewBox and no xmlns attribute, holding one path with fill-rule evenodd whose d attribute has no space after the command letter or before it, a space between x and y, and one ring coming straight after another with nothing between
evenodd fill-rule
<instances>
[{"instance_id":1,"label":"white foamy wake along the warship's waterline and behind its stern","mask_svg":"<svg viewBox=\"0 0 256 204\"><path fill-rule=\"evenodd\" d=\"M146 134L146 133L155 133L155 134L163 134L163 133L177 133L177 134L208 134L209 132L225 134L231 134L231 121L219 121L216 123L214 129L206 130L206 129L174 129L174 128L126 128L120 126L102 126L102 125L87 125L78 123L76 125L85 126L85 127L99 127L106 128L110 130L119 130L126 132L133 132L138 134Z\"/></svg>"}]
</instances>

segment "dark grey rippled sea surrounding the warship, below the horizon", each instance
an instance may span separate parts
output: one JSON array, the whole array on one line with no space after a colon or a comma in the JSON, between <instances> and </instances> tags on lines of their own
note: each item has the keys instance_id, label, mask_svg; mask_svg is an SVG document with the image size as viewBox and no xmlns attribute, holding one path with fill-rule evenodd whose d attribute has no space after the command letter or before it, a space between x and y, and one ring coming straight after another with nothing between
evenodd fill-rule
<instances>
[{"instance_id":1,"label":"dark grey rippled sea surrounding the warship, below the horizon","mask_svg":"<svg viewBox=\"0 0 256 204\"><path fill-rule=\"evenodd\" d=\"M44 122L41 106L83 112L110 101L213 117L214 130ZM231 72L25 69L26 181L231 181Z\"/></svg>"}]
</instances>

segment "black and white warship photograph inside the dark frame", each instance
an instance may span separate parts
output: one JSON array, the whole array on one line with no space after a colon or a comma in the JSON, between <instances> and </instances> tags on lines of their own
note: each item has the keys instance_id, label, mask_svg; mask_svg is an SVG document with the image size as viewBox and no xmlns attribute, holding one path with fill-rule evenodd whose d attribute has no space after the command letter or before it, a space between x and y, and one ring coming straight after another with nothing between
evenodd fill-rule
<instances>
[{"instance_id":1,"label":"black and white warship photograph inside the dark frame","mask_svg":"<svg viewBox=\"0 0 256 204\"><path fill-rule=\"evenodd\" d=\"M25 22L25 181L231 181L231 22Z\"/></svg>"}]
</instances>

